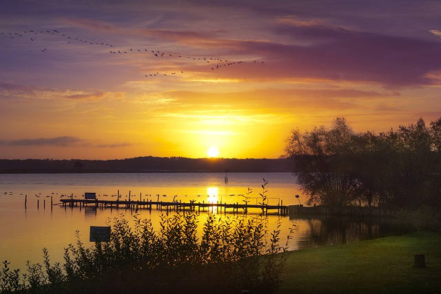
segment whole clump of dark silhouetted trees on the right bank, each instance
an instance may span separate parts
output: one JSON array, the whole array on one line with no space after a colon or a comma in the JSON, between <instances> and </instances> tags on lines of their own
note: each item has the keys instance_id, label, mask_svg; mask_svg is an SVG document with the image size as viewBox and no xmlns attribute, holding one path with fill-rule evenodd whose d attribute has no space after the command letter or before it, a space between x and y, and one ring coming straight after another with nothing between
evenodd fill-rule
<instances>
[{"instance_id":1,"label":"whole clump of dark silhouetted trees on the right bank","mask_svg":"<svg viewBox=\"0 0 441 294\"><path fill-rule=\"evenodd\" d=\"M441 118L380 134L356 133L337 118L329 128L294 130L286 153L309 204L441 209Z\"/></svg>"}]
</instances>

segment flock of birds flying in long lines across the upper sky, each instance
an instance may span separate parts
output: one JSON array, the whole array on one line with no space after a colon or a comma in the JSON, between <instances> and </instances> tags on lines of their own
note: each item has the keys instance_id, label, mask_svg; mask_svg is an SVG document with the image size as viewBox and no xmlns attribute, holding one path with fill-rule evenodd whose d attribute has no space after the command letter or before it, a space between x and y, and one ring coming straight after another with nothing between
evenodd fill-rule
<instances>
[{"instance_id":1,"label":"flock of birds flying in long lines across the upper sky","mask_svg":"<svg viewBox=\"0 0 441 294\"><path fill-rule=\"evenodd\" d=\"M186 59L187 61L198 61L203 62L205 65L209 67L210 70L220 70L222 67L230 67L230 66L236 66L241 65L245 63L245 61L229 61L227 59L222 59L218 57L208 57L208 56L184 56L183 54L176 54L172 52L165 52L163 50L152 50L151 48L127 48L127 49L121 49L116 48L114 44L105 43L105 42L99 42L99 41L90 41L86 40L84 38L72 36L70 34L65 34L61 32L60 30L23 30L23 32L0 32L0 36L5 36L10 39L21 39L21 38L28 38L30 42L36 41L37 35L44 35L44 36L56 36L58 38L63 39L67 43L79 43L84 45L93 45L93 46L99 46L102 48L108 48L108 52L110 54L150 54L151 56L154 56L158 59L164 59L164 58L174 58L174 59ZM46 53L48 52L48 48L42 48L40 49L41 52ZM247 61L248 63L253 63L255 65L263 65L264 61ZM174 72L148 72L144 74L145 78L155 77L155 76L176 76L179 74L184 74L183 70L175 70Z\"/></svg>"}]
</instances>

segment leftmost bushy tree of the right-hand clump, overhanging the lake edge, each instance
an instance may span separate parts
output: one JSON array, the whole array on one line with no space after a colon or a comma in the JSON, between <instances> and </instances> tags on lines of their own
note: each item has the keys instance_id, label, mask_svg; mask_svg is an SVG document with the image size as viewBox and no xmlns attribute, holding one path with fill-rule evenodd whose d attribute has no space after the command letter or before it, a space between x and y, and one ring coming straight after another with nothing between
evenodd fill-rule
<instances>
[{"instance_id":1,"label":"leftmost bushy tree of the right-hand clump, overhanging the lake edge","mask_svg":"<svg viewBox=\"0 0 441 294\"><path fill-rule=\"evenodd\" d=\"M295 129L291 133L286 152L297 159L296 174L309 195L308 204L341 207L358 197L362 183L345 163L352 157L353 136L345 118L336 118L330 129L318 127L304 134Z\"/></svg>"}]
</instances>

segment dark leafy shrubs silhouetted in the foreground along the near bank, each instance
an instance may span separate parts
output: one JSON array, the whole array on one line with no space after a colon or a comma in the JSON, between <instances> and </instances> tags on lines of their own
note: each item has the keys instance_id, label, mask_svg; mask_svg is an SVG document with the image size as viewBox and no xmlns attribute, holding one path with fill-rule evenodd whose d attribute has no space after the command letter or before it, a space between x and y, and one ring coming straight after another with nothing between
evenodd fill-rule
<instances>
[{"instance_id":1,"label":"dark leafy shrubs silhouetted in the foreground along the near bank","mask_svg":"<svg viewBox=\"0 0 441 294\"><path fill-rule=\"evenodd\" d=\"M198 237L198 217L163 216L112 221L110 242L65 248L63 264L31 264L25 273L3 262L1 293L274 293L287 255L280 230L269 232L263 216L217 220L209 216ZM294 228L293 228L294 229ZM80 240L80 239L79 239Z\"/></svg>"}]
</instances>

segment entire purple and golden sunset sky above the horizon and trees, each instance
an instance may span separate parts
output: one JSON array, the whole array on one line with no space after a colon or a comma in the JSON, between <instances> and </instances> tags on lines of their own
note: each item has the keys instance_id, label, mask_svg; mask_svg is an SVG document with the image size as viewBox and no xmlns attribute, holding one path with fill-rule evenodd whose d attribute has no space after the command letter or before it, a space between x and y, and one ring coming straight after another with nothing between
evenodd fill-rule
<instances>
[{"instance_id":1,"label":"entire purple and golden sunset sky above the horizon and trees","mask_svg":"<svg viewBox=\"0 0 441 294\"><path fill-rule=\"evenodd\" d=\"M277 158L291 129L336 116L429 123L440 15L425 0L1 1L0 158Z\"/></svg>"}]
</instances>

